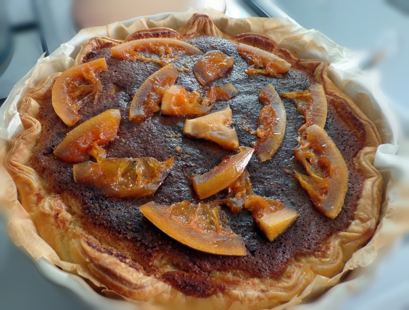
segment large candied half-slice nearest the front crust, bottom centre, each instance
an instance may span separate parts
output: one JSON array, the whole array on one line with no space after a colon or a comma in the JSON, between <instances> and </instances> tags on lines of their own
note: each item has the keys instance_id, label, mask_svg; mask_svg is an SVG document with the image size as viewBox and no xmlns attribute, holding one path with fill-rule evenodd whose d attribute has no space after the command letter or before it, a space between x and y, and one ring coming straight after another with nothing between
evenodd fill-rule
<instances>
[{"instance_id":1,"label":"large candied half-slice nearest the front crust, bottom centre","mask_svg":"<svg viewBox=\"0 0 409 310\"><path fill-rule=\"evenodd\" d=\"M217 205L183 201L161 206L149 202L140 210L157 228L195 250L217 255L246 255L242 237L233 232Z\"/></svg>"}]
</instances>

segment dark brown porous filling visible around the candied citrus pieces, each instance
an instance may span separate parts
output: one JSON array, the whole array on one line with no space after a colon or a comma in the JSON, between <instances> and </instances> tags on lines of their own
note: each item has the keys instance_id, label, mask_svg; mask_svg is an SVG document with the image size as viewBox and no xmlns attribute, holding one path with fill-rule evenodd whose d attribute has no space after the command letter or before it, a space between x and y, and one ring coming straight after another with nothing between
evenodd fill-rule
<instances>
[{"instance_id":1,"label":"dark brown porous filling visible around the candied citrus pieces","mask_svg":"<svg viewBox=\"0 0 409 310\"><path fill-rule=\"evenodd\" d=\"M237 47L233 43L214 37L199 37L189 41L203 52L217 49L234 57L235 63L230 73L211 85L233 83L239 90L237 97L228 102L217 102L215 109L230 104L233 110L233 126L242 146L249 146L256 138L249 131L255 131L257 128L257 117L262 108L258 93L264 85L271 83L280 93L305 90L314 82L311 76L295 69L290 69L282 79L262 75L247 77L245 69L248 65L237 54ZM108 64L108 71L99 77L104 86L103 93L98 102L79 111L83 119L78 124L108 108L120 109L122 120L119 135L106 147L108 157L152 156L165 160L174 156L174 167L169 176L154 196L144 199L104 198L93 188L79 186L73 179L72 164L53 155L54 148L71 129L55 114L51 98L45 100L40 108L39 120L43 132L31 161L53 190L58 193L71 193L81 200L83 221L90 227L90 231L97 229L119 240L131 241L134 245L134 249L130 249L133 259L148 271L157 272L155 268L148 266L156 257L161 256L168 264L183 271L163 274L161 277L164 280L188 295L209 296L217 291L212 289L212 285L206 280L210 279L207 275L212 271L239 271L250 277L279 277L291 258L319 250L322 242L329 236L348 227L363 182L362 174L353 163L354 156L362 148L362 141L351 134L351 129L344 125L341 116L336 114L329 102L325 129L343 154L349 169L349 189L345 205L336 219L330 220L316 211L298 181L285 172L294 169L304 171L293 156L294 147L297 145L297 131L304 124L304 118L297 113L290 101L283 100L287 112L287 129L282 146L270 160L263 163L259 163L253 156L247 169L255 194L282 200L286 205L295 208L300 213L296 223L270 243L254 223L251 213L243 210L239 214L232 214L225 208L232 229L243 236L247 248L247 255L243 257L206 254L170 239L143 217L139 206L151 200L161 204L185 199L198 202L189 183L189 176L210 170L232 152L221 149L213 142L184 136L182 131L185 118L163 116L159 112L144 122L130 122L128 109L133 94L159 67L152 63L110 58L109 49L91 52L87 60L101 57L106 57ZM185 68L184 64L187 63L191 68L198 58L199 56L180 57L175 64L179 68ZM192 60L188 62L188 59ZM185 86L187 90L203 89L191 70L189 73L180 72L176 84ZM111 93L114 89L119 91ZM225 193L219 193L209 200L219 199L224 195ZM203 275L203 278L199 281L189 273ZM200 283L205 282L203 287ZM203 290L206 292L203 293ZM194 293L198 291L201 293Z\"/></svg>"}]
</instances>

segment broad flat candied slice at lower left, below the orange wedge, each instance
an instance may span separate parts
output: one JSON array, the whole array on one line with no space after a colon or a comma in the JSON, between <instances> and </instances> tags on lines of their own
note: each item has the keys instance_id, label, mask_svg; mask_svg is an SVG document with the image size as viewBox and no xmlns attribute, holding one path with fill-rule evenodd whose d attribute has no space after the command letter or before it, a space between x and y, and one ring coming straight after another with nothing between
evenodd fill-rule
<instances>
[{"instance_id":1,"label":"broad flat candied slice at lower left, below the orange wedge","mask_svg":"<svg viewBox=\"0 0 409 310\"><path fill-rule=\"evenodd\" d=\"M74 180L117 198L153 195L173 166L173 157L161 162L152 157L105 158L74 165Z\"/></svg>"}]
</instances>

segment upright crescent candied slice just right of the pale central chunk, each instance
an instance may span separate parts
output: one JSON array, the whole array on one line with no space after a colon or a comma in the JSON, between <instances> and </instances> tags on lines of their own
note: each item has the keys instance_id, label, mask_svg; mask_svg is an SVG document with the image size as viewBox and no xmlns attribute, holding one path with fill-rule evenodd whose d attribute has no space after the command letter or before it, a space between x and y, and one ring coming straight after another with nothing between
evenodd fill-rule
<instances>
[{"instance_id":1,"label":"upright crescent candied slice just right of the pale central chunk","mask_svg":"<svg viewBox=\"0 0 409 310\"><path fill-rule=\"evenodd\" d=\"M270 159L283 143L287 114L280 96L271 84L260 90L259 100L264 107L257 121L259 139L255 142L254 149L262 162Z\"/></svg>"}]
</instances>

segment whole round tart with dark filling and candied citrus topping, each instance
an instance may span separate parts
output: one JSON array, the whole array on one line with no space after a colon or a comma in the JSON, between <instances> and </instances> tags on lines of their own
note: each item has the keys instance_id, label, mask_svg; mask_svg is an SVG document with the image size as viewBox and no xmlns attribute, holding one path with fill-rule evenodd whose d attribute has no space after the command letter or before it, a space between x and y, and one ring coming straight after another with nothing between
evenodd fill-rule
<instances>
[{"instance_id":1,"label":"whole round tart with dark filling and candied citrus topping","mask_svg":"<svg viewBox=\"0 0 409 310\"><path fill-rule=\"evenodd\" d=\"M326 62L203 14L84 42L19 113L5 166L39 235L129 300L275 307L378 221L379 134Z\"/></svg>"}]
</instances>

